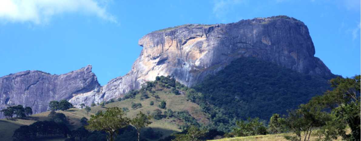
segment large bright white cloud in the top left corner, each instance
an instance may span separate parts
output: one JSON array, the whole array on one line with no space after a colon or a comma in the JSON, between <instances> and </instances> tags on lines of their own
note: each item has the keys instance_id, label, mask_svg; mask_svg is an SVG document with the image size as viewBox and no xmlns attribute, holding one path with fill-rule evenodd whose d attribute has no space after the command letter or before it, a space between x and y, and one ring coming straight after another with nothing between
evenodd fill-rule
<instances>
[{"instance_id":1,"label":"large bright white cloud in the top left corner","mask_svg":"<svg viewBox=\"0 0 361 141\"><path fill-rule=\"evenodd\" d=\"M38 25L49 22L57 14L80 12L116 23L115 17L106 12L107 3L105 0L0 0L0 21L30 21Z\"/></svg>"}]
</instances>

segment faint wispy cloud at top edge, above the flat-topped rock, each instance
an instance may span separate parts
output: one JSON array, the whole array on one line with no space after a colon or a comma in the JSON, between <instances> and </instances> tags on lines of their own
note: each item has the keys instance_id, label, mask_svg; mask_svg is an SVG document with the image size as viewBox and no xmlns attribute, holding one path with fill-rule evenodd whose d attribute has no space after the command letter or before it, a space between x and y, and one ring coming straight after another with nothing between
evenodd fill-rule
<instances>
[{"instance_id":1,"label":"faint wispy cloud at top edge, above the flat-topped rock","mask_svg":"<svg viewBox=\"0 0 361 141\"><path fill-rule=\"evenodd\" d=\"M227 13L234 11L234 7L247 4L247 0L214 0L213 14L217 18L224 18Z\"/></svg>"}]
</instances>

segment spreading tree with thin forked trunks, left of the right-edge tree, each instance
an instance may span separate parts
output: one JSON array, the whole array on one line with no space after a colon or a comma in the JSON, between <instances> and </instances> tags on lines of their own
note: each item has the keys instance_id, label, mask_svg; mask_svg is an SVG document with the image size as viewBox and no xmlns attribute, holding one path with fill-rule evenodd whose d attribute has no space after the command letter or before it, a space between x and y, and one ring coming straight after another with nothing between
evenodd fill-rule
<instances>
[{"instance_id":1,"label":"spreading tree with thin forked trunks, left of the right-edge tree","mask_svg":"<svg viewBox=\"0 0 361 141\"><path fill-rule=\"evenodd\" d=\"M293 131L296 136L285 136L286 140L309 141L311 133L330 121L329 114L319 111L317 107L310 105L300 105L299 109L288 112L286 127Z\"/></svg>"}]
</instances>

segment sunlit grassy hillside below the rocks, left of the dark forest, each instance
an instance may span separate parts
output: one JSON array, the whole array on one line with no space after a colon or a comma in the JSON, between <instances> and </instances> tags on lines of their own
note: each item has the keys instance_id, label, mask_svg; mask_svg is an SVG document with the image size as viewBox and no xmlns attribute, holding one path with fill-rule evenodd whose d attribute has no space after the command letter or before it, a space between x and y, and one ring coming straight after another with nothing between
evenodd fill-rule
<instances>
[{"instance_id":1,"label":"sunlit grassy hillside below the rocks, left of the dark forest","mask_svg":"<svg viewBox=\"0 0 361 141\"><path fill-rule=\"evenodd\" d=\"M155 97L151 96L151 93L149 93L149 98L147 99L141 99L141 94L137 94L136 96L123 100L118 102L113 102L106 104L104 106L94 106L91 107L91 111L87 115L87 112L84 109L69 109L68 111L57 111L57 113L63 113L65 114L66 118L69 121L69 128L71 130L77 129L82 126L80 123L81 118L86 117L90 119L90 115L95 115L98 111L106 111L106 108L108 107L127 107L129 109L129 112L127 112L128 118L134 118L136 114L139 113L139 111L142 111L143 113L150 112L152 113L154 110L159 109L164 113L164 111L167 111L168 109L171 109L172 111L188 111L191 116L193 116L197 122L199 123L208 123L208 116L203 112L203 110L200 108L199 105L196 103L187 101L186 96L180 94L176 95L172 93L171 88L162 87L161 85L155 85L151 89L153 91L152 95L158 95L159 98L156 99ZM158 105L161 103L161 101L166 101L166 109L160 109L158 108ZM154 101L154 105L151 106L150 102ZM142 107L138 109L132 109L132 102L134 103L142 103ZM31 115L27 118L13 118L13 119L1 119L0 120L0 141L11 141L12 135L14 130L19 128L22 125L30 125L32 123L35 123L37 121L43 121L43 120L50 120L48 118L49 115L48 112L39 113L35 115ZM185 122L182 119L177 118L163 118L160 120L151 120L152 124L149 125L155 132L160 131L163 133L163 137L169 136L173 132L181 132L180 129L181 125L184 125ZM147 127L148 128L148 127ZM147 129L147 128L144 128ZM46 138L42 139L42 141L60 141L64 140L64 138ZM149 140L149 139L148 139ZM154 141L154 140L149 140Z\"/></svg>"}]
</instances>

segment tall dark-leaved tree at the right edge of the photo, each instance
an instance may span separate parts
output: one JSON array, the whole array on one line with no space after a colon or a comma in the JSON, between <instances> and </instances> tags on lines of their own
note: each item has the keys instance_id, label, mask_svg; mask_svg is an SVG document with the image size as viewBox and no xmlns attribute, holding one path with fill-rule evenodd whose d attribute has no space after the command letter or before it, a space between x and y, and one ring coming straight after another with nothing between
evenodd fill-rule
<instances>
[{"instance_id":1,"label":"tall dark-leaved tree at the right edge of the photo","mask_svg":"<svg viewBox=\"0 0 361 141\"><path fill-rule=\"evenodd\" d=\"M309 105L319 106L321 110L331 110L335 116L336 123L344 123L351 128L351 134L345 132L345 125L334 126L331 129L344 140L360 141L361 130L361 75L352 78L335 78L330 80L332 91L325 92L322 96L312 98ZM328 124L331 125L332 124ZM325 132L327 133L327 132ZM327 133L329 136L332 132Z\"/></svg>"}]
</instances>

